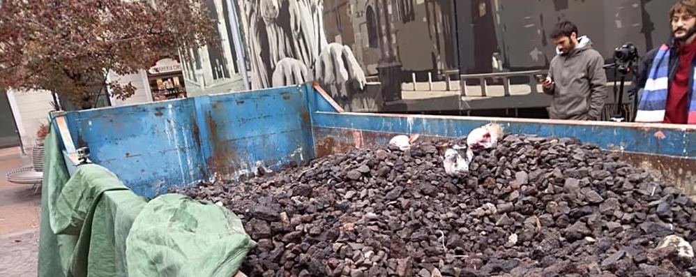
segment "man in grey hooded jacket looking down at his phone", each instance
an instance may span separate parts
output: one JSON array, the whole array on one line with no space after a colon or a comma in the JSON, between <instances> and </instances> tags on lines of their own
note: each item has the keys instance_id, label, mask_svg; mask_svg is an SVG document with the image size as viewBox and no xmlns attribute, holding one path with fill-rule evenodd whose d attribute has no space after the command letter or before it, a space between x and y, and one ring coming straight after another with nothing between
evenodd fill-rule
<instances>
[{"instance_id":1,"label":"man in grey hooded jacket looking down at his phone","mask_svg":"<svg viewBox=\"0 0 696 277\"><path fill-rule=\"evenodd\" d=\"M592 49L587 36L577 37L575 24L563 21L551 33L557 56L542 82L544 92L553 96L552 119L598 120L607 98L604 59Z\"/></svg>"}]
</instances>

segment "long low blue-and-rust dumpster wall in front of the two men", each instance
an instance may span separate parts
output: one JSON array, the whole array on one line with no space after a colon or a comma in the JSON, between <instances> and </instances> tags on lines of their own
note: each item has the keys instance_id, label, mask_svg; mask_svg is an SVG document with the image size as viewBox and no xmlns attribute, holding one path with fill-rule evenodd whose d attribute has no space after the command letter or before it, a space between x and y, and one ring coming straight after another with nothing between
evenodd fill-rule
<instances>
[{"instance_id":1,"label":"long low blue-and-rust dumpster wall in front of the two men","mask_svg":"<svg viewBox=\"0 0 696 277\"><path fill-rule=\"evenodd\" d=\"M317 157L349 151L354 147L386 144L398 134L419 133L426 139L462 137L485 123L501 123L507 133L575 137L622 154L661 180L696 195L696 128L663 124L577 122L428 115L312 114ZM665 138L655 133L661 131Z\"/></svg>"}]
</instances>

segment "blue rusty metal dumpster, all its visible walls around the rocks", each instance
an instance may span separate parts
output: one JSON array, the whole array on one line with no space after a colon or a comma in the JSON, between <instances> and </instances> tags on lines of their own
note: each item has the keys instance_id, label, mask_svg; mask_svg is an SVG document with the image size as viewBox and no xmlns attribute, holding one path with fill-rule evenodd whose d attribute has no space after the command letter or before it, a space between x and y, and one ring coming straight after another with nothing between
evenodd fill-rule
<instances>
[{"instance_id":1,"label":"blue rusty metal dumpster, all its visible walls around the rocks","mask_svg":"<svg viewBox=\"0 0 696 277\"><path fill-rule=\"evenodd\" d=\"M467 135L491 121L506 133L575 137L696 194L696 127L667 124L443 117L344 112L314 84L54 114L66 145L89 147L135 193L211 178L234 179L259 163L278 169L396 134ZM657 134L657 135L656 135ZM70 156L73 147L66 147Z\"/></svg>"}]
</instances>

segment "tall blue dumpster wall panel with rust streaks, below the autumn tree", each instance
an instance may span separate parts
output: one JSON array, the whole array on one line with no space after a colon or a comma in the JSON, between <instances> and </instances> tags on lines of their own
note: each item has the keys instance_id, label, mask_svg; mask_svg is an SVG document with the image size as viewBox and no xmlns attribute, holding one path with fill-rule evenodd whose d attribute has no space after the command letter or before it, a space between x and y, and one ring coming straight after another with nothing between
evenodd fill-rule
<instances>
[{"instance_id":1,"label":"tall blue dumpster wall panel with rust streaks, below the autumn tree","mask_svg":"<svg viewBox=\"0 0 696 277\"><path fill-rule=\"evenodd\" d=\"M313 157L307 87L67 112L77 147L138 195Z\"/></svg>"}]
</instances>

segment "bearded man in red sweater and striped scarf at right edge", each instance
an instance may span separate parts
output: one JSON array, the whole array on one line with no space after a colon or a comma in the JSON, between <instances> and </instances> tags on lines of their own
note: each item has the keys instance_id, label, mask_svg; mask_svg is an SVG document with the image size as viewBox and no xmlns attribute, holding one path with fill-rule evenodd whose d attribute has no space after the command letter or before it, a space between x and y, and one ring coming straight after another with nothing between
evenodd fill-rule
<instances>
[{"instance_id":1,"label":"bearded man in red sweater and striped scarf at right edge","mask_svg":"<svg viewBox=\"0 0 696 277\"><path fill-rule=\"evenodd\" d=\"M676 2L669 18L672 38L643 57L629 89L643 89L635 121L696 124L696 0Z\"/></svg>"}]
</instances>

